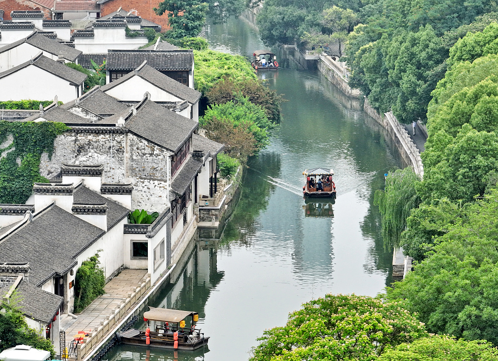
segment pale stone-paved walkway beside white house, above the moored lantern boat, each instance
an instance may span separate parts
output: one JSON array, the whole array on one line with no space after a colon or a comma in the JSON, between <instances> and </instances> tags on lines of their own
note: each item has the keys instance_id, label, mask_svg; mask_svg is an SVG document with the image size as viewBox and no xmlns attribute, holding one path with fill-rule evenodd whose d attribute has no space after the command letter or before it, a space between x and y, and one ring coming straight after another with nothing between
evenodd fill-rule
<instances>
[{"instance_id":1,"label":"pale stone-paved walkway beside white house, above the moored lantern boat","mask_svg":"<svg viewBox=\"0 0 498 361\"><path fill-rule=\"evenodd\" d=\"M66 341L78 331L91 332L104 320L123 300L128 292L132 292L142 282L146 270L123 270L105 286L106 293L93 301L90 306L78 314L78 319L67 317L61 321L61 330L66 331Z\"/></svg>"}]
</instances>

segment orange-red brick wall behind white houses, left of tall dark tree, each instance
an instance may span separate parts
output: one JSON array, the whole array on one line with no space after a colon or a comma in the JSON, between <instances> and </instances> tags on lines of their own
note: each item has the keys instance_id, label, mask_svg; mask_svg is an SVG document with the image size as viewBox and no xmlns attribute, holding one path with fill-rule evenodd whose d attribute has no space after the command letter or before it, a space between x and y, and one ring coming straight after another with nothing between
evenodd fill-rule
<instances>
[{"instance_id":1,"label":"orange-red brick wall behind white houses, left of tall dark tree","mask_svg":"<svg viewBox=\"0 0 498 361\"><path fill-rule=\"evenodd\" d=\"M100 5L100 16L105 16L118 10L121 6L124 10L136 10L136 14L143 19L161 25L161 31L169 29L168 14L156 15L153 8L159 6L159 0L109 0Z\"/></svg>"}]
</instances>

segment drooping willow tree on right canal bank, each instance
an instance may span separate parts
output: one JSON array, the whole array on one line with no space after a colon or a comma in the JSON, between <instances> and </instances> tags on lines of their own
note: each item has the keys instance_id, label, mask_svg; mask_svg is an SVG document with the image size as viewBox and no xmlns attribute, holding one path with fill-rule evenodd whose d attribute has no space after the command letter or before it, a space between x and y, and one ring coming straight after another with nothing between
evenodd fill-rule
<instances>
[{"instance_id":1,"label":"drooping willow tree on right canal bank","mask_svg":"<svg viewBox=\"0 0 498 361\"><path fill-rule=\"evenodd\" d=\"M382 215L382 237L384 245L399 246L401 232L406 228L406 218L420 204L416 185L420 182L411 168L389 172L385 190L378 189L373 196Z\"/></svg>"}]
</instances>

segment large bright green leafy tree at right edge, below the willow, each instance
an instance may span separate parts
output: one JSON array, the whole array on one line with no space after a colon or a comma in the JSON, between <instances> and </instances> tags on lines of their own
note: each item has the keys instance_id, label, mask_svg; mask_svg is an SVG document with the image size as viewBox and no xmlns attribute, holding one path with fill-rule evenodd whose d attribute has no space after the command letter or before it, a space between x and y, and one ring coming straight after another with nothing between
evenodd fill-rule
<instances>
[{"instance_id":1,"label":"large bright green leafy tree at right edge, below the willow","mask_svg":"<svg viewBox=\"0 0 498 361\"><path fill-rule=\"evenodd\" d=\"M498 190L469 206L462 222L437 237L430 257L387 299L404 299L428 331L498 343Z\"/></svg>"}]
</instances>

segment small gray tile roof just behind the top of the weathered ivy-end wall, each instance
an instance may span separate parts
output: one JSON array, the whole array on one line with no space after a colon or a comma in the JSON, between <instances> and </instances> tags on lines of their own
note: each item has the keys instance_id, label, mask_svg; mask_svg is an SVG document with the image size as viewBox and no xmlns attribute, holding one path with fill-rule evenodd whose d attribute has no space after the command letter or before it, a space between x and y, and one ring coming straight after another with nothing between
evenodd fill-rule
<instances>
[{"instance_id":1,"label":"small gray tile roof just behind the top of the weathered ivy-end wall","mask_svg":"<svg viewBox=\"0 0 498 361\"><path fill-rule=\"evenodd\" d=\"M79 106L99 115L116 114L127 109L125 105L120 103L111 95L107 95L99 87L95 87L95 89L85 93L79 99ZM62 104L60 107L63 109L70 109L75 105L76 101L71 100L65 104Z\"/></svg>"}]
</instances>

